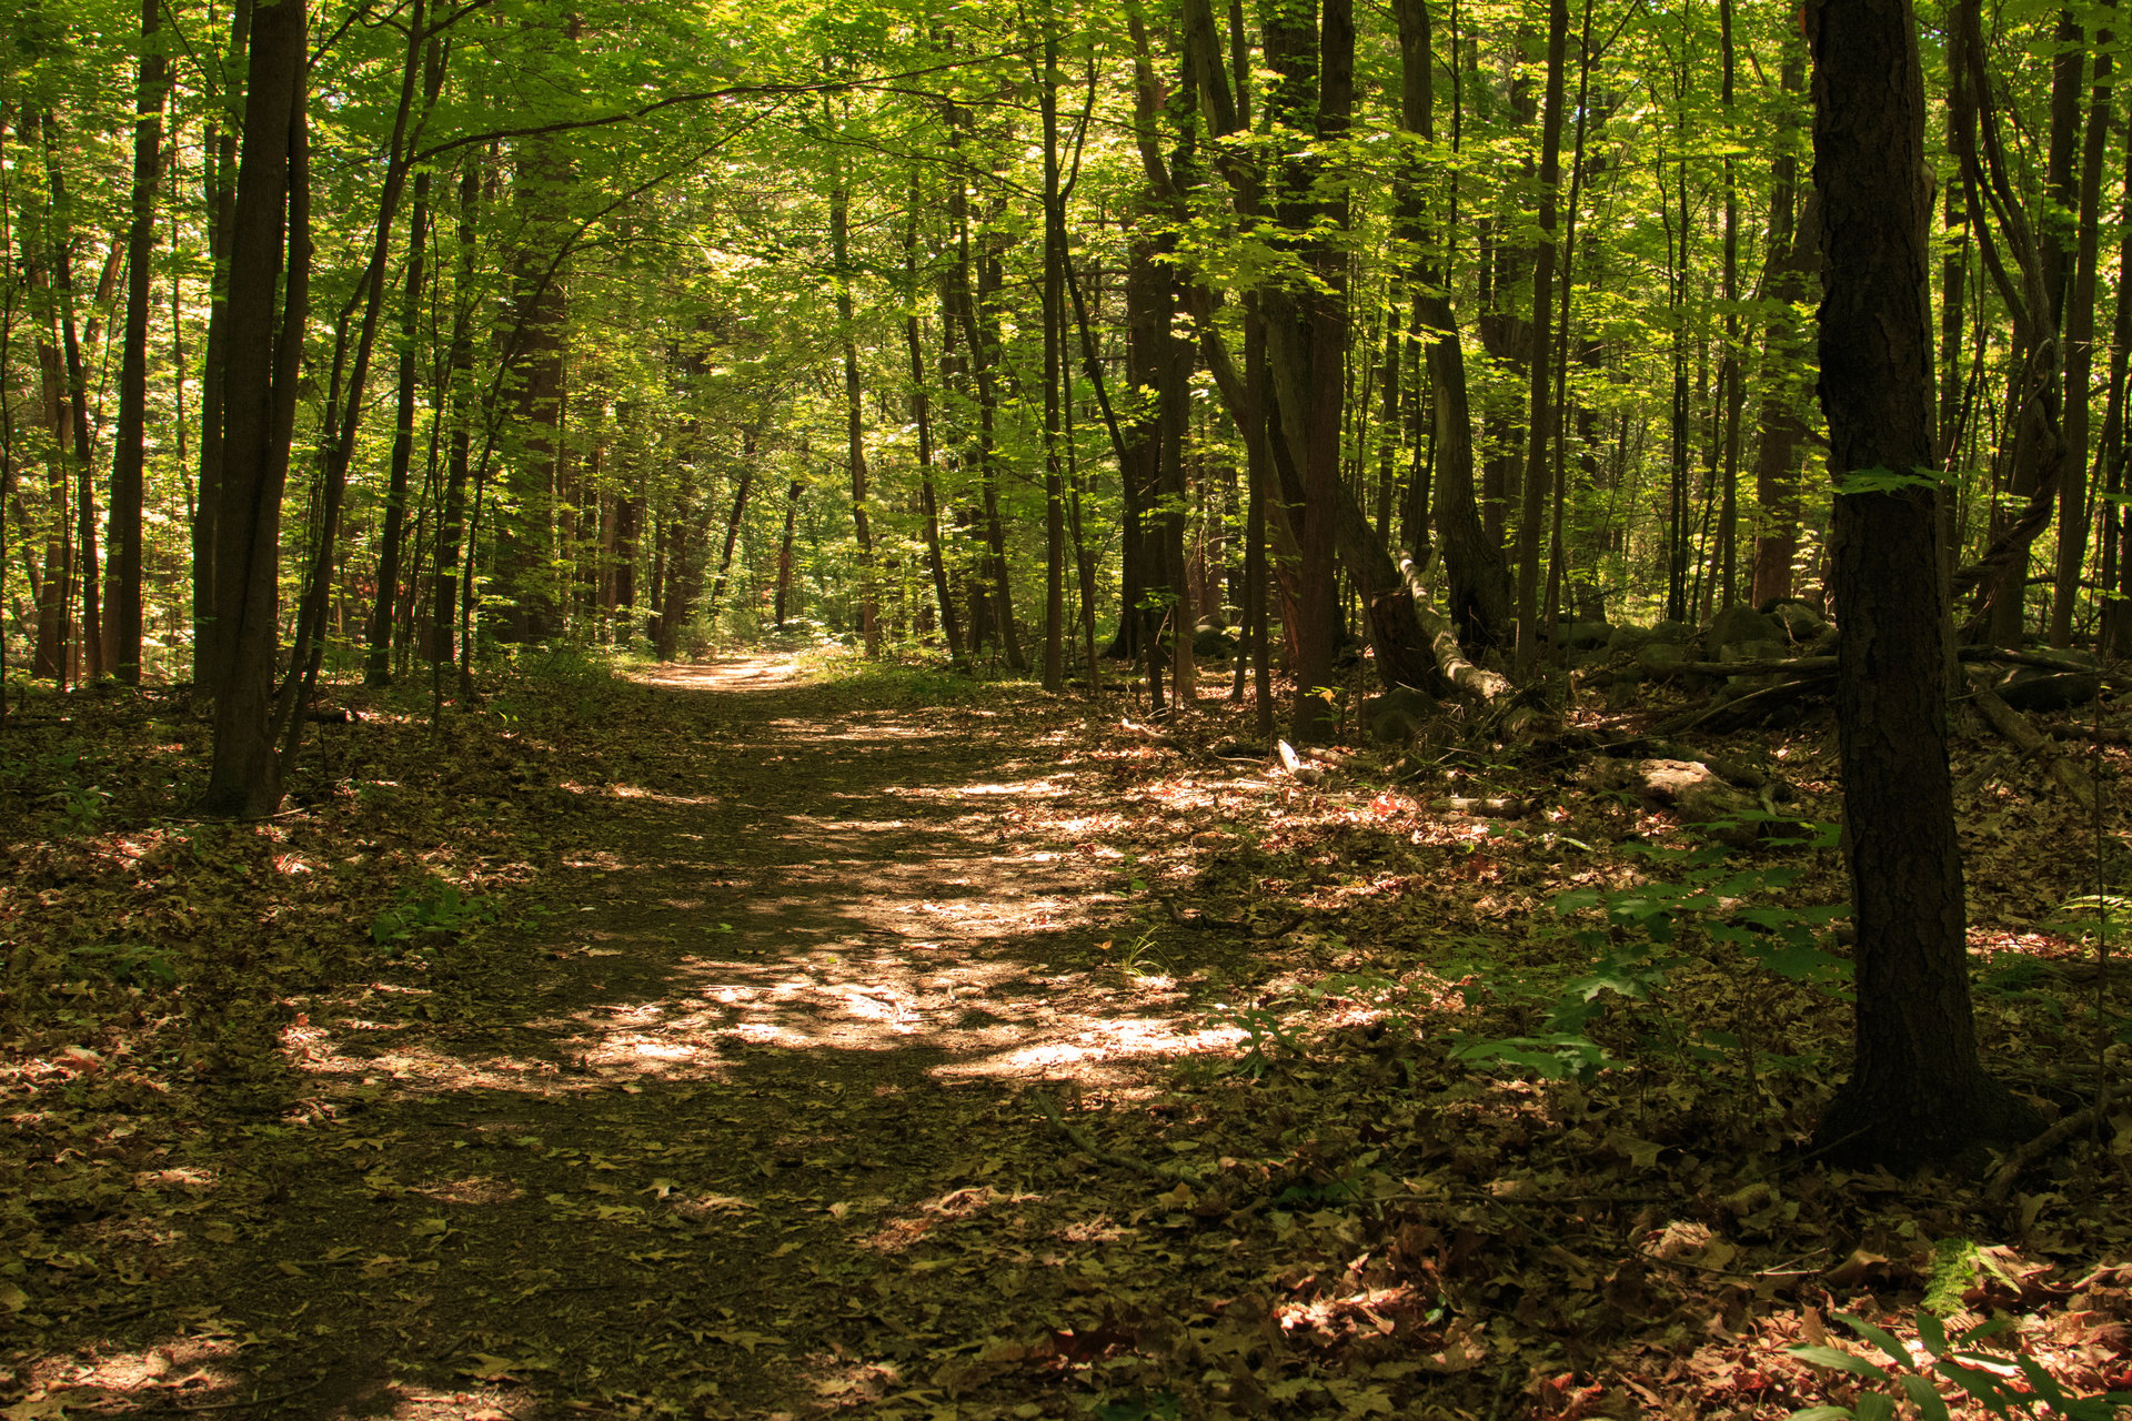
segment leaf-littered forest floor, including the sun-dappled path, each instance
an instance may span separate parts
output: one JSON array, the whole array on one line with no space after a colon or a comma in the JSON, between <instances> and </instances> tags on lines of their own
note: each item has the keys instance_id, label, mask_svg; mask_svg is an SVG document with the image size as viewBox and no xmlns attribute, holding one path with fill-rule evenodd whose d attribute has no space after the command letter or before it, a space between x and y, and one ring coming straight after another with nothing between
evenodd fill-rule
<instances>
[{"instance_id":1,"label":"leaf-littered forest floor, including the sun-dappled path","mask_svg":"<svg viewBox=\"0 0 2132 1421\"><path fill-rule=\"evenodd\" d=\"M266 824L171 818L177 699L0 731L4 1421L1776 1419L1895 1393L1793 1346L1993 1314L1955 1415L2132 1387L2132 1118L2004 1202L1806 1157L1825 846L791 656L343 703ZM1834 816L1825 718L1746 739ZM2111 754L2100 844L1964 790L2049 1114L2123 1074L2053 920L2123 878Z\"/></svg>"}]
</instances>

